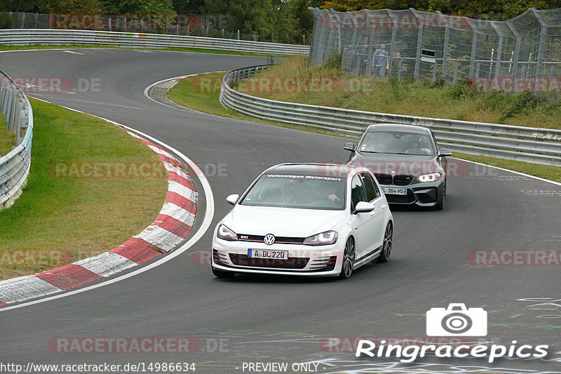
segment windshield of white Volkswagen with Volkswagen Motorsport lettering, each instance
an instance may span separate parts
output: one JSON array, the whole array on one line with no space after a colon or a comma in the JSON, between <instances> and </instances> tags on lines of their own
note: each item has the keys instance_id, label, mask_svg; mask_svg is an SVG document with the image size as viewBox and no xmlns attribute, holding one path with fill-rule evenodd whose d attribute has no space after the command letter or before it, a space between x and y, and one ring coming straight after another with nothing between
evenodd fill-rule
<instances>
[{"instance_id":1,"label":"windshield of white Volkswagen with Volkswagen Motorsport lettering","mask_svg":"<svg viewBox=\"0 0 561 374\"><path fill-rule=\"evenodd\" d=\"M346 178L264 174L243 196L241 205L342 211L345 186Z\"/></svg>"}]
</instances>

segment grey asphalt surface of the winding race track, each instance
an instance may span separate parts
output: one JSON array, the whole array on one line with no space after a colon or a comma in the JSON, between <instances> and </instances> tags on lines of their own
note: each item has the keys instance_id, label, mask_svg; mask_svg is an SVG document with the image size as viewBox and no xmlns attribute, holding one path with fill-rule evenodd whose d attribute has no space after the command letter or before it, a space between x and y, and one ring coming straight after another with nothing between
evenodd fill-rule
<instances>
[{"instance_id":1,"label":"grey asphalt surface of the winding race track","mask_svg":"<svg viewBox=\"0 0 561 374\"><path fill-rule=\"evenodd\" d=\"M147 133L207 170L217 222L224 198L241 192L266 166L290 161L344 161L344 140L250 121L182 111L144 96L156 81L258 65L264 58L133 50L22 51L0 54L12 77L99 79L99 90L36 97ZM32 94L32 96L34 96ZM39 128L40 123L36 123ZM100 145L102 146L102 145ZM237 373L243 361L321 361L318 371L471 372L494 368L560 372L558 266L475 267L474 250L561 248L561 187L459 161L445 211L394 209L393 258L349 281L237 276L214 279L195 251L210 249L210 230L173 261L124 281L0 314L3 362L196 362L198 373ZM222 172L218 172L222 171ZM213 222L213 223L214 223ZM212 225L211 225L212 227ZM488 312L487 338L509 345L550 345L550 361L355 359L329 337L424 337L431 307L464 302ZM64 354L53 338L191 337L192 354ZM523 343L522 343L523 342ZM51 347L52 348L52 347ZM343 352L336 352L337 350ZM54 349L56 351L56 349ZM500 368L505 369L500 369ZM391 371L394 370L394 371Z\"/></svg>"}]
</instances>

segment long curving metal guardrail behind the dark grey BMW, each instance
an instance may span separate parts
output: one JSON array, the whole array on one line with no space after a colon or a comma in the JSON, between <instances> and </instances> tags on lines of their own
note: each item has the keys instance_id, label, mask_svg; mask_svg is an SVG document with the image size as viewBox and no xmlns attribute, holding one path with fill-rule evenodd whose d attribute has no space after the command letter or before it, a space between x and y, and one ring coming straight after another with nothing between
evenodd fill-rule
<instances>
[{"instance_id":1,"label":"long curving metal guardrail behind the dark grey BMW","mask_svg":"<svg viewBox=\"0 0 561 374\"><path fill-rule=\"evenodd\" d=\"M433 129L440 145L452 151L561 166L560 130L321 107L256 98L232 88L234 83L267 67L246 67L224 75L219 97L222 106L260 119L311 126L351 137L359 137L372 123L426 126Z\"/></svg>"}]
</instances>

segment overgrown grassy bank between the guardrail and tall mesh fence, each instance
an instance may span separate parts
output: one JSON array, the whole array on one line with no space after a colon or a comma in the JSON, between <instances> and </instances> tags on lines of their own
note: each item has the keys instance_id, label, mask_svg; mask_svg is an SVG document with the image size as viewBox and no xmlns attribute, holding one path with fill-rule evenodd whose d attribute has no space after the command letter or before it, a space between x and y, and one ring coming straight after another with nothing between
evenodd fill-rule
<instances>
[{"instance_id":1,"label":"overgrown grassy bank between the guardrail and tall mesh fence","mask_svg":"<svg viewBox=\"0 0 561 374\"><path fill-rule=\"evenodd\" d=\"M271 84L261 86L266 79ZM287 79L305 82L307 89L273 89L273 82L283 84ZM310 88L311 79L325 84ZM330 65L310 66L303 57L285 60L257 74L239 91L271 100L367 112L561 129L560 95L536 98L531 93L478 93L469 82L444 86L443 81L357 78Z\"/></svg>"}]
</instances>

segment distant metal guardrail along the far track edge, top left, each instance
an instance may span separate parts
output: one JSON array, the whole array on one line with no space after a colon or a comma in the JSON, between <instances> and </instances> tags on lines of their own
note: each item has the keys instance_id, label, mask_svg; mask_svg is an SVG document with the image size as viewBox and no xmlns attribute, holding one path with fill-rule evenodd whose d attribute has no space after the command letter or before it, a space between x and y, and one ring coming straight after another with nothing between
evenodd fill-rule
<instances>
[{"instance_id":1,"label":"distant metal guardrail along the far track edge, top left","mask_svg":"<svg viewBox=\"0 0 561 374\"><path fill-rule=\"evenodd\" d=\"M86 44L121 48L208 48L270 55L307 55L309 46L236 39L74 29L0 29L0 44Z\"/></svg>"}]
</instances>

